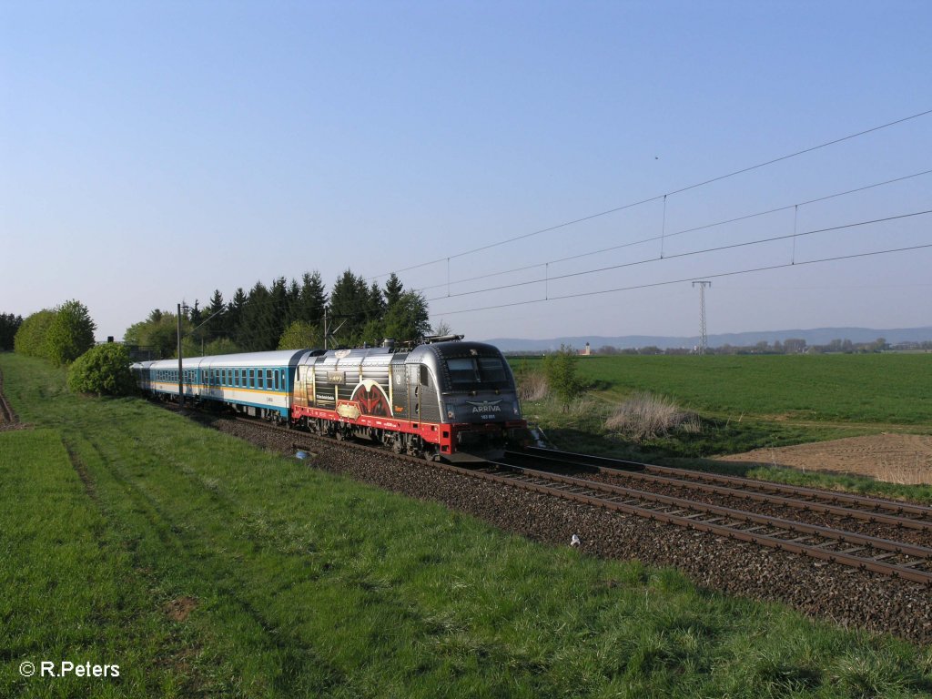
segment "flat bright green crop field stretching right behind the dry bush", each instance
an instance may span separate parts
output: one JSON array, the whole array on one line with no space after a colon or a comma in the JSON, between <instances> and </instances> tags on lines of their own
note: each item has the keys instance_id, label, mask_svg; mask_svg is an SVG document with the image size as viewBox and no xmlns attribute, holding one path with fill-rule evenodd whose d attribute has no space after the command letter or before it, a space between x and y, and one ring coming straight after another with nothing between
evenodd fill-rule
<instances>
[{"instance_id":1,"label":"flat bright green crop field stretching right behind the dry bush","mask_svg":"<svg viewBox=\"0 0 932 699\"><path fill-rule=\"evenodd\" d=\"M714 417L932 426L932 353L596 356L579 368L606 399L654 391Z\"/></svg>"}]
</instances>

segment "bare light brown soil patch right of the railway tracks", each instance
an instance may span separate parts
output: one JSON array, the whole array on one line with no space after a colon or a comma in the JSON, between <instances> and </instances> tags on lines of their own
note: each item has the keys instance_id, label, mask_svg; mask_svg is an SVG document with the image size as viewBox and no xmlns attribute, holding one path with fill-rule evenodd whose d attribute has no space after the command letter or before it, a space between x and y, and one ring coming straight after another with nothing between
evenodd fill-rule
<instances>
[{"instance_id":1,"label":"bare light brown soil patch right of the railway tracks","mask_svg":"<svg viewBox=\"0 0 932 699\"><path fill-rule=\"evenodd\" d=\"M778 449L754 449L718 460L788 466L802 471L856 473L903 485L932 484L932 435L871 434Z\"/></svg>"}]
</instances>

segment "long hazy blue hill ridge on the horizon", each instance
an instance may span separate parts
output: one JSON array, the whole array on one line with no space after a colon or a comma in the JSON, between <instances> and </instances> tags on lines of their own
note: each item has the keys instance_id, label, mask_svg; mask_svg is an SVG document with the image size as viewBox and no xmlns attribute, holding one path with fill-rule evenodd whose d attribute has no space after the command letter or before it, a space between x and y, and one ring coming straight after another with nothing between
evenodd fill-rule
<instances>
[{"instance_id":1,"label":"long hazy blue hill ridge on the horizon","mask_svg":"<svg viewBox=\"0 0 932 699\"><path fill-rule=\"evenodd\" d=\"M875 330L872 328L815 328L813 330L767 330L752 333L725 333L708 336L709 347L733 345L735 347L748 347L759 342L773 344L777 340L786 342L789 338L803 339L806 345L828 345L834 339L851 340L854 343L873 342L883 337L891 344L899 342L925 342L932 340L932 327L924 328L897 328L893 330ZM600 347L609 345L618 349L659 347L660 349L687 348L692 349L699 344L699 336L665 337L651 335L625 335L625 336L575 336L554 337L552 339L522 339L516 337L494 337L485 340L504 352L518 351L545 351L547 349L560 349L560 345L569 345L575 349L583 349L585 343L595 351Z\"/></svg>"}]
</instances>

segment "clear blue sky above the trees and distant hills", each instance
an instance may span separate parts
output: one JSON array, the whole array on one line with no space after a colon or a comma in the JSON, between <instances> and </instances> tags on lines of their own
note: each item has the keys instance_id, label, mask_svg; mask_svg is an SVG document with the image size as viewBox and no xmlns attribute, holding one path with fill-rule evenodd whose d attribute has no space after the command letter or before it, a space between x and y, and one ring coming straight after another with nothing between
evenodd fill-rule
<instances>
[{"instance_id":1,"label":"clear blue sky above the trees and distant hills","mask_svg":"<svg viewBox=\"0 0 932 699\"><path fill-rule=\"evenodd\" d=\"M676 256L929 210L932 174L673 235L930 170L932 114L462 254L930 110L930 36L927 0L2 0L0 311L77 298L121 337L441 260L400 277L473 339L694 335L692 279L710 333L932 325L932 248L714 276L927 245L928 214Z\"/></svg>"}]
</instances>

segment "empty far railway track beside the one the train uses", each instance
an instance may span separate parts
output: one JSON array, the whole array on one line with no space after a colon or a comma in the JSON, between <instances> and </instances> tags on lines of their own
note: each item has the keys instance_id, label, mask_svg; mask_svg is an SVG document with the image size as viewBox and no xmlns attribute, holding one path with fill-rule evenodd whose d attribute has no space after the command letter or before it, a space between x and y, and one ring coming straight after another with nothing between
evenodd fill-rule
<instances>
[{"instance_id":1,"label":"empty far railway track beside the one the train uses","mask_svg":"<svg viewBox=\"0 0 932 699\"><path fill-rule=\"evenodd\" d=\"M654 481L676 487L696 488L734 498L774 502L795 509L824 514L838 514L898 527L932 530L932 508L908 502L876 500L816 488L785 486L753 478L688 471L667 466L637 463L637 461L608 459L572 452L559 452L553 449L541 449L539 447L529 447L524 452L507 452L506 455L520 459L547 459L559 462L563 466L586 466L596 469L599 473L623 475L627 478ZM602 463L615 465L603 466ZM617 464L625 464L628 468L619 468ZM637 470L632 470L632 467L637 468ZM910 514L915 516L908 516Z\"/></svg>"}]
</instances>

